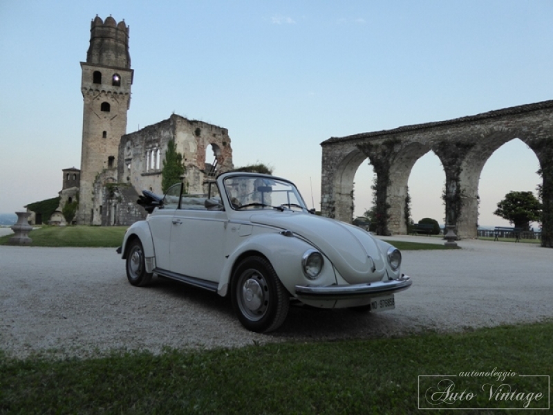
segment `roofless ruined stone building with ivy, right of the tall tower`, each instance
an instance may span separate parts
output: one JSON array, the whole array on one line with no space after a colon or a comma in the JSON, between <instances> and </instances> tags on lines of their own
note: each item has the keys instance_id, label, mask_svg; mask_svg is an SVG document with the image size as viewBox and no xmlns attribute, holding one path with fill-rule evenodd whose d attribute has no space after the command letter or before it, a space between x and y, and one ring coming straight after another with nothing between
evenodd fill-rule
<instances>
[{"instance_id":1,"label":"roofless ruined stone building with ivy, right of the tall tower","mask_svg":"<svg viewBox=\"0 0 553 415\"><path fill-rule=\"evenodd\" d=\"M206 176L232 169L228 130L176 114L121 138L118 182L132 183L136 190L161 194L162 167L167 143L174 140L185 163L185 184L191 194L203 193ZM212 153L212 159L206 156ZM211 162L211 163L209 163Z\"/></svg>"}]
</instances>

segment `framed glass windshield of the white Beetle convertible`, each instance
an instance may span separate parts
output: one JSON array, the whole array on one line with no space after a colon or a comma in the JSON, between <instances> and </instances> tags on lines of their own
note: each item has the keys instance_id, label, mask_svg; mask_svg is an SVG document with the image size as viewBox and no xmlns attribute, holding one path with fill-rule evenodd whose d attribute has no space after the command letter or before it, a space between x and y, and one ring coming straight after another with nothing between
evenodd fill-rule
<instances>
[{"instance_id":1,"label":"framed glass windshield of the white Beetle convertible","mask_svg":"<svg viewBox=\"0 0 553 415\"><path fill-rule=\"evenodd\" d=\"M225 178L225 190L234 210L307 209L297 188L285 181L259 176Z\"/></svg>"}]
</instances>

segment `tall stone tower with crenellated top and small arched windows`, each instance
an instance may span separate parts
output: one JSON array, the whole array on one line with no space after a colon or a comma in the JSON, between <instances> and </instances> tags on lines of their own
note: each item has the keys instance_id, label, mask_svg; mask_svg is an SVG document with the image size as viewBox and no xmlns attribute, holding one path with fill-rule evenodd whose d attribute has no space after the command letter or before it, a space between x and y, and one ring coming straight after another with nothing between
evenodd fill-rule
<instances>
[{"instance_id":1,"label":"tall stone tower with crenellated top and small arched windows","mask_svg":"<svg viewBox=\"0 0 553 415\"><path fill-rule=\"evenodd\" d=\"M83 97L81 178L77 223L100 225L104 184L117 181L118 148L126 133L133 70L129 26L113 17L91 22L86 62L81 62Z\"/></svg>"}]
</instances>

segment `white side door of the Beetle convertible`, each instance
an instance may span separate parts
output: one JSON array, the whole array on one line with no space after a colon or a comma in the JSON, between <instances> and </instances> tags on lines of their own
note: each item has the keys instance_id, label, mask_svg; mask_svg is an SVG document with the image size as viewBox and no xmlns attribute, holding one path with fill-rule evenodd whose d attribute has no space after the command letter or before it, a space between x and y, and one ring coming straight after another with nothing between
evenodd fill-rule
<instances>
[{"instance_id":1,"label":"white side door of the Beetle convertible","mask_svg":"<svg viewBox=\"0 0 553 415\"><path fill-rule=\"evenodd\" d=\"M225 211L181 203L171 221L171 271L218 282L226 260L226 229Z\"/></svg>"}]
</instances>

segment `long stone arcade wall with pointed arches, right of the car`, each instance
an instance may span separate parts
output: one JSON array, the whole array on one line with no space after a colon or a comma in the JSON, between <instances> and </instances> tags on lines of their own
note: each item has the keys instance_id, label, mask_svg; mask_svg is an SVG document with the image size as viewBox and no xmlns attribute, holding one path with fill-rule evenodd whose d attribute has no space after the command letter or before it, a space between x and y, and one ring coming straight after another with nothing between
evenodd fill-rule
<instances>
[{"instance_id":1,"label":"long stone arcade wall with pointed arches, right of the car","mask_svg":"<svg viewBox=\"0 0 553 415\"><path fill-rule=\"evenodd\" d=\"M445 218L459 237L476 237L478 181L491 154L519 138L543 174L543 245L553 246L553 101L500 109L443 122L330 138L321 143L321 212L351 222L353 179L366 159L376 176L379 234L405 234L404 206L415 162L433 151L444 167ZM377 219L378 220L378 219Z\"/></svg>"}]
</instances>

